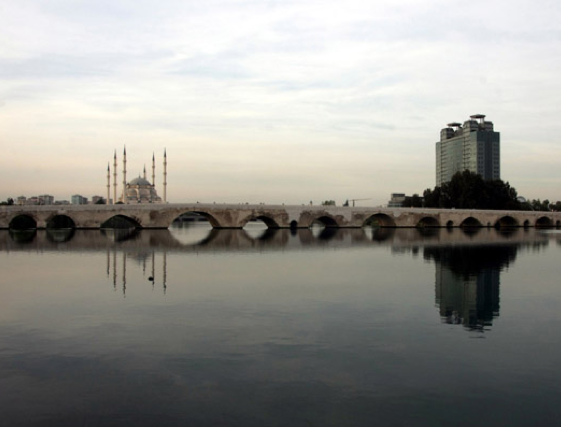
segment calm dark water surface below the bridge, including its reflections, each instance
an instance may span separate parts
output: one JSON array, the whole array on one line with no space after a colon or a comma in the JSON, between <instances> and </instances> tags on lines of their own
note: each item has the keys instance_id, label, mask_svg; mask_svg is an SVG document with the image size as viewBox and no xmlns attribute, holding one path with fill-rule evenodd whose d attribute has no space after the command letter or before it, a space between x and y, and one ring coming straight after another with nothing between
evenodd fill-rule
<instances>
[{"instance_id":1,"label":"calm dark water surface below the bridge, including its reflections","mask_svg":"<svg viewBox=\"0 0 561 427\"><path fill-rule=\"evenodd\" d=\"M555 232L2 231L0 248L2 426L561 423Z\"/></svg>"}]
</instances>

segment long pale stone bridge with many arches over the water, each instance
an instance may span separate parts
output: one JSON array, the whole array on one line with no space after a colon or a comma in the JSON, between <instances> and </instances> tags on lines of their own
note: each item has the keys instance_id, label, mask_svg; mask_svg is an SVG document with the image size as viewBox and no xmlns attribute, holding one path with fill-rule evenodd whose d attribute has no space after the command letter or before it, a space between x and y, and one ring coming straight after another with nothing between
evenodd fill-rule
<instances>
[{"instance_id":1,"label":"long pale stone bridge with many arches over the water","mask_svg":"<svg viewBox=\"0 0 561 427\"><path fill-rule=\"evenodd\" d=\"M118 217L136 228L168 228L180 215L195 213L214 228L243 228L261 220L269 228L326 227L559 227L561 212L486 211L249 204L136 204L0 206L0 228L111 228Z\"/></svg>"}]
</instances>

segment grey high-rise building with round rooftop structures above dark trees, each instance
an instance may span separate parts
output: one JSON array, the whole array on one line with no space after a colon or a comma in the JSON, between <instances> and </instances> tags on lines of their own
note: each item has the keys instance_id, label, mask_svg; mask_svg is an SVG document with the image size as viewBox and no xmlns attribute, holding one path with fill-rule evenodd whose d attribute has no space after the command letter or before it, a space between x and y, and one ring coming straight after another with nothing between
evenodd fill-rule
<instances>
[{"instance_id":1,"label":"grey high-rise building with round rooftop structures above dark trees","mask_svg":"<svg viewBox=\"0 0 561 427\"><path fill-rule=\"evenodd\" d=\"M448 123L436 143L436 185L452 179L456 172L469 170L483 179L500 179L500 133L485 115L474 114L470 120Z\"/></svg>"}]
</instances>

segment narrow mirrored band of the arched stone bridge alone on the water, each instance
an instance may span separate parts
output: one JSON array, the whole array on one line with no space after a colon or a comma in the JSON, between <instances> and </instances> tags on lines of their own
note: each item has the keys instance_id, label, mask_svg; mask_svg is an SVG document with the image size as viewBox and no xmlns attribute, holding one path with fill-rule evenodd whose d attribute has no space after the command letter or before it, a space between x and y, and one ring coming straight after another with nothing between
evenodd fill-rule
<instances>
[{"instance_id":1,"label":"narrow mirrored band of the arched stone bridge alone on the water","mask_svg":"<svg viewBox=\"0 0 561 427\"><path fill-rule=\"evenodd\" d=\"M412 246L427 244L491 244L547 240L561 235L546 234L534 229L395 229L313 227L311 229L247 229L219 230L208 224L195 223L169 230L102 229L102 230L24 230L0 233L0 249L24 249L34 242L45 250L100 249L108 245L156 247L169 250L252 251L313 249L328 245L335 249L359 246Z\"/></svg>"}]
</instances>

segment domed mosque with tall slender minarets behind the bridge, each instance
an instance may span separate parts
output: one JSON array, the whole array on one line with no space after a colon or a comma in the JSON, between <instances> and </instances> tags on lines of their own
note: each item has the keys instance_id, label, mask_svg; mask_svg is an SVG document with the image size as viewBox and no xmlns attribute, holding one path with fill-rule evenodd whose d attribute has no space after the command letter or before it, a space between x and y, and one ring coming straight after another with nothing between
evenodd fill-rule
<instances>
[{"instance_id":1,"label":"domed mosque with tall slender minarets behind the bridge","mask_svg":"<svg viewBox=\"0 0 561 427\"><path fill-rule=\"evenodd\" d=\"M111 198L111 168L107 164L107 201L115 203L137 204L137 203L167 203L167 154L164 150L164 193L163 198L158 196L156 191L156 159L152 154L152 182L146 179L146 166L144 166L144 176L138 176L127 182L127 149L123 150L123 189L117 196L117 151L113 156L113 198Z\"/></svg>"}]
</instances>

